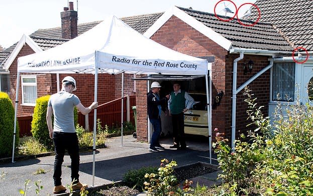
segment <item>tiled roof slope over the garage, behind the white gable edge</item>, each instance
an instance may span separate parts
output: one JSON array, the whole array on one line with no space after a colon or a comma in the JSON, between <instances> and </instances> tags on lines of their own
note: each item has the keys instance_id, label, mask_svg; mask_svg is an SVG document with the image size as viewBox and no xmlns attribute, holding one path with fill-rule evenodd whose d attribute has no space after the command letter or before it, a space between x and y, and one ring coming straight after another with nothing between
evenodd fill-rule
<instances>
[{"instance_id":1,"label":"tiled roof slope over the garage, behind the white gable edge","mask_svg":"<svg viewBox=\"0 0 313 196\"><path fill-rule=\"evenodd\" d=\"M230 40L234 47L282 51L293 50L290 44L284 40L270 23L257 23L253 25L255 23L254 21L245 20L241 22L252 26L244 26L236 18L230 20L230 17L219 15L218 17L222 20L230 20L225 22L219 20L211 13L178 8Z\"/></svg>"}]
</instances>

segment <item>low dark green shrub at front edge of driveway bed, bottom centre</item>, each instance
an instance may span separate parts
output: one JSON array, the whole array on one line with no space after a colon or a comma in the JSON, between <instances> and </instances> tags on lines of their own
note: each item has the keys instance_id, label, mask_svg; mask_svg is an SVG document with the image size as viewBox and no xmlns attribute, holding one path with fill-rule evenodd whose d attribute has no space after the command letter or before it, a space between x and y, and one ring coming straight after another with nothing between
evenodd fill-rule
<instances>
[{"instance_id":1,"label":"low dark green shrub at front edge of driveway bed, bottom centre","mask_svg":"<svg viewBox=\"0 0 313 196\"><path fill-rule=\"evenodd\" d=\"M146 173L157 173L157 167L143 167L141 169L129 170L123 176L123 181L129 187L134 187L139 191L143 191Z\"/></svg>"}]
</instances>

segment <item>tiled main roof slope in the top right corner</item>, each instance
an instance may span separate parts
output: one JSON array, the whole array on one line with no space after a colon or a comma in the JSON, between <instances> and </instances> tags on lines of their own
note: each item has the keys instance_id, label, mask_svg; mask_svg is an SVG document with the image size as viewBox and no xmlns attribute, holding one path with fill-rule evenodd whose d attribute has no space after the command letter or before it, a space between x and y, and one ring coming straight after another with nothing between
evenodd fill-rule
<instances>
[{"instance_id":1,"label":"tiled main roof slope in the top right corner","mask_svg":"<svg viewBox=\"0 0 313 196\"><path fill-rule=\"evenodd\" d=\"M255 5L261 12L260 22L270 22L284 35L294 46L303 43L307 50L312 50L313 43L313 1L312 0L257 0ZM258 12L251 7L252 15L246 19L256 20ZM300 37L298 35L310 35ZM304 39L304 40L302 40ZM303 45L301 47L304 47Z\"/></svg>"}]
</instances>

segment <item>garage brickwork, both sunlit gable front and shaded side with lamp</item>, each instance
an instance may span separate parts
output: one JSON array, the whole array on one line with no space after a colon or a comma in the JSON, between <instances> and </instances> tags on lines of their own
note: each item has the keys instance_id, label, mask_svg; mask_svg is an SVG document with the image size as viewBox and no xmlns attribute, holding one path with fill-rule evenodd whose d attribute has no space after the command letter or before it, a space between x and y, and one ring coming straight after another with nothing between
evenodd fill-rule
<instances>
[{"instance_id":1,"label":"garage brickwork, both sunlit gable front and shaded side with lamp","mask_svg":"<svg viewBox=\"0 0 313 196\"><path fill-rule=\"evenodd\" d=\"M215 62L212 64L212 97L214 98L221 90L225 95L220 105L212 111L212 130L218 127L220 132L225 133L231 141L232 132L232 88L233 88L233 62L239 54L229 54L220 45L208 39L188 24L175 16L172 16L152 37L152 40L178 52L191 56L215 55ZM238 63L238 87L247 81L258 71L266 67L269 62L268 56L245 55L244 59L254 61L252 74L243 75L243 61ZM248 61L246 61L248 62ZM256 96L258 102L265 106L264 113L267 114L269 101L269 71L263 74L256 81L252 82L250 89ZM238 88L237 87L237 88ZM140 141L147 141L147 85L145 81L137 82L137 138ZM243 91L237 95L237 130L247 130L247 104L244 102ZM215 140L215 133L213 141Z\"/></svg>"}]
</instances>

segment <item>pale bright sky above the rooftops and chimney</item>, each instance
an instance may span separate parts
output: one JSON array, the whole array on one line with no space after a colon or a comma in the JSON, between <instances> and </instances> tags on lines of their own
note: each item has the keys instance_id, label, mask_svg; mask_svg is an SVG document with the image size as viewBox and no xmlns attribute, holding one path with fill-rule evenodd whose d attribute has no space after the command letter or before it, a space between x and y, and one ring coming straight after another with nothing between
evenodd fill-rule
<instances>
[{"instance_id":1,"label":"pale bright sky above the rooftops and chimney","mask_svg":"<svg viewBox=\"0 0 313 196\"><path fill-rule=\"evenodd\" d=\"M68 2L74 3L80 24L101 21L109 15L120 18L165 12L172 6L225 15L224 3L233 12L236 12L235 5L238 9L249 3L239 9L240 18L256 0L0 0L0 45L8 48L23 34L60 27L60 13L68 7ZM227 16L233 17L234 14L228 13Z\"/></svg>"}]
</instances>

